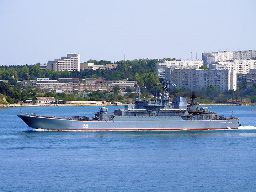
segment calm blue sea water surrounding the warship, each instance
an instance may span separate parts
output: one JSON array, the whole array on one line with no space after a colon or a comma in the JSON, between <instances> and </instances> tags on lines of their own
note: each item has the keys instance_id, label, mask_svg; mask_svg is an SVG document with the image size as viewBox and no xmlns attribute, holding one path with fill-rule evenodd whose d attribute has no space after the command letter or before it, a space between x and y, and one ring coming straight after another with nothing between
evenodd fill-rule
<instances>
[{"instance_id":1,"label":"calm blue sea water surrounding the warship","mask_svg":"<svg viewBox=\"0 0 256 192\"><path fill-rule=\"evenodd\" d=\"M113 111L116 107L108 107ZM240 130L29 131L0 110L0 191L256 191L256 106L214 106ZM69 117L88 107L22 107Z\"/></svg>"}]
</instances>

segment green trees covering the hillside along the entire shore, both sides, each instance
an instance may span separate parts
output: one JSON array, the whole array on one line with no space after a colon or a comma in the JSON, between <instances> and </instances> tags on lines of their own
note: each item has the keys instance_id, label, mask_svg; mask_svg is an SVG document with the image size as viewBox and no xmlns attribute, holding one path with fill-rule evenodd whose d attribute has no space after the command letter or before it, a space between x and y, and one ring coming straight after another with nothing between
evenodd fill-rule
<instances>
[{"instance_id":1,"label":"green trees covering the hillside along the entire shore, both sides","mask_svg":"<svg viewBox=\"0 0 256 192\"><path fill-rule=\"evenodd\" d=\"M164 58L160 60L175 60L175 58ZM17 103L18 101L24 101L26 97L43 96L44 92L36 90L35 87L22 87L22 85L16 84L18 80L36 80L36 78L49 78L50 80L57 80L58 78L79 78L80 80L86 78L103 78L105 80L130 80L137 81L141 87L143 96L157 95L161 92L159 87L160 79L155 74L155 65L158 59L135 59L135 60L121 60L114 62L117 68L110 70L88 70L88 71L53 71L49 69L41 70L40 63L35 65L10 65L0 66L0 78L9 80L8 84L2 82L0 84L0 94L6 97L6 101L9 103ZM96 65L110 64L110 61L97 61L88 60L87 63L95 63ZM208 70L206 66L202 66L202 69ZM53 93L51 93L53 94ZM190 90L181 89L178 90L174 87L170 91L172 96L185 96L189 97L192 92ZM246 87L246 82L238 84L237 90L225 91L221 94L212 85L203 87L202 90L197 91L199 96L198 100L206 103L216 101L218 103L224 103L227 98L236 100L239 97L251 98L251 102L256 102L256 84L252 87ZM46 94L47 95L47 94ZM49 95L49 94L48 94ZM90 94L84 96L77 93L67 95L52 95L61 100L102 100L102 101L130 101L131 97L134 97L134 93L131 92L128 96L122 96L118 91L102 92L91 91Z\"/></svg>"}]
</instances>

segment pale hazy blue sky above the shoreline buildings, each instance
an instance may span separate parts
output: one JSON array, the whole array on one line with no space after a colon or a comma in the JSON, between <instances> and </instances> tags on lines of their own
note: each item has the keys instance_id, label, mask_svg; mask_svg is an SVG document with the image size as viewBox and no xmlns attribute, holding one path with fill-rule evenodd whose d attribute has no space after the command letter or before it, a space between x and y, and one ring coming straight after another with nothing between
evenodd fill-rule
<instances>
[{"instance_id":1,"label":"pale hazy blue sky above the shoreline buildings","mask_svg":"<svg viewBox=\"0 0 256 192\"><path fill-rule=\"evenodd\" d=\"M256 50L255 0L0 0L0 65Z\"/></svg>"}]
</instances>

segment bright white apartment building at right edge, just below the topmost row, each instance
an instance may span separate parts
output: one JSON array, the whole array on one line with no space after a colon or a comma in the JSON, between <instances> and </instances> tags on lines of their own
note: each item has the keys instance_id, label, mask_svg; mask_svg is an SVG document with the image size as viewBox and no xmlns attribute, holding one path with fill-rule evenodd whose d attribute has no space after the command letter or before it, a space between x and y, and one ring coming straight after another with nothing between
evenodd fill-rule
<instances>
[{"instance_id":1,"label":"bright white apartment building at right edge, just below the topmost row","mask_svg":"<svg viewBox=\"0 0 256 192\"><path fill-rule=\"evenodd\" d=\"M247 74L251 69L256 69L256 59L219 62L218 64L213 65L213 69L236 70L236 73L238 74Z\"/></svg>"}]
</instances>

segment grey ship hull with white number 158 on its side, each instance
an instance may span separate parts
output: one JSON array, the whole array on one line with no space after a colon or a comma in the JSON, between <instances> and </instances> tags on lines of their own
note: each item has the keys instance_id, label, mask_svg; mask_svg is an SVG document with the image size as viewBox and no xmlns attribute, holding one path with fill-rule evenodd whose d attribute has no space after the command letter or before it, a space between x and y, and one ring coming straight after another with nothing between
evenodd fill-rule
<instances>
[{"instance_id":1,"label":"grey ship hull with white number 158 on its side","mask_svg":"<svg viewBox=\"0 0 256 192\"><path fill-rule=\"evenodd\" d=\"M238 129L238 119L184 121L178 119L156 119L148 117L144 119L118 119L112 121L76 121L48 117L34 117L18 114L28 127L47 130L217 130Z\"/></svg>"}]
</instances>

